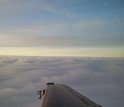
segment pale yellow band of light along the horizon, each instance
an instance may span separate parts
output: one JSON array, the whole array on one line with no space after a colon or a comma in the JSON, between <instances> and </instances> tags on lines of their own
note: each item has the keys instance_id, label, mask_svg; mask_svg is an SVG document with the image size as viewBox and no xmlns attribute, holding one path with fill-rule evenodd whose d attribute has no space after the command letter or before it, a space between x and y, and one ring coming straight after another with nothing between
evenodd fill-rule
<instances>
[{"instance_id":1,"label":"pale yellow band of light along the horizon","mask_svg":"<svg viewBox=\"0 0 124 107\"><path fill-rule=\"evenodd\" d=\"M0 47L4 56L124 57L122 48L35 48Z\"/></svg>"}]
</instances>

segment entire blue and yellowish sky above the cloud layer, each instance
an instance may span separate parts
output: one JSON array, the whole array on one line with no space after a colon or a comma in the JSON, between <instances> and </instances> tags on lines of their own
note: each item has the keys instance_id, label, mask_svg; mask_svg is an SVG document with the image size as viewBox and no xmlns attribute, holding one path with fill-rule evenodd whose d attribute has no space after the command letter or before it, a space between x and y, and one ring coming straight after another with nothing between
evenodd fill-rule
<instances>
[{"instance_id":1,"label":"entire blue and yellowish sky above the cloud layer","mask_svg":"<svg viewBox=\"0 0 124 107\"><path fill-rule=\"evenodd\" d=\"M0 55L124 57L123 0L0 0Z\"/></svg>"}]
</instances>

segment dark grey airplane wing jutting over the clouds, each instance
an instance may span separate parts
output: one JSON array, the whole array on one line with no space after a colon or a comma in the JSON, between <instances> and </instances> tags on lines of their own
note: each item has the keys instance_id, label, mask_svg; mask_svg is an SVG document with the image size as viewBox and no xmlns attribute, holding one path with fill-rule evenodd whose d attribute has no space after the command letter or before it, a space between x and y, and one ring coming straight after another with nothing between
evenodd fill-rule
<instances>
[{"instance_id":1,"label":"dark grey airplane wing jutting over the clouds","mask_svg":"<svg viewBox=\"0 0 124 107\"><path fill-rule=\"evenodd\" d=\"M41 107L102 107L63 84L47 83L43 91Z\"/></svg>"}]
</instances>

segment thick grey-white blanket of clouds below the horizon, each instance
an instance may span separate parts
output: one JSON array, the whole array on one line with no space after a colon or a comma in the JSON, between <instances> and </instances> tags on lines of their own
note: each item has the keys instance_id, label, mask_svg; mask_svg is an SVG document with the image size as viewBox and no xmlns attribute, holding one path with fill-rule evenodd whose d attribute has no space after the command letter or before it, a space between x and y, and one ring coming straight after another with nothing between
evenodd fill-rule
<instances>
[{"instance_id":1,"label":"thick grey-white blanket of clouds below the horizon","mask_svg":"<svg viewBox=\"0 0 124 107\"><path fill-rule=\"evenodd\" d=\"M124 107L124 59L0 57L0 107L40 107L47 82L66 84L102 105Z\"/></svg>"}]
</instances>

